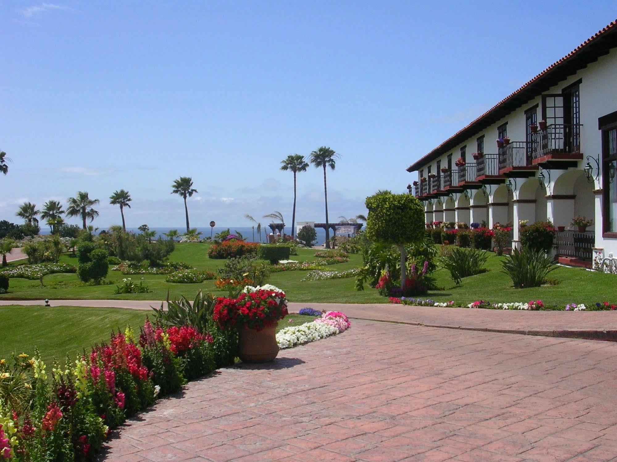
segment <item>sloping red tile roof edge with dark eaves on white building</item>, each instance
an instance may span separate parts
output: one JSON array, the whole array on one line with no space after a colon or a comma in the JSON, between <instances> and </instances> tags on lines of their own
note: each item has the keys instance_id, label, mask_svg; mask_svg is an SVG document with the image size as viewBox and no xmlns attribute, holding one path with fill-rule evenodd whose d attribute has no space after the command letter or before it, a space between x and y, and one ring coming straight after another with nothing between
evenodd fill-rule
<instances>
[{"instance_id":1,"label":"sloping red tile roof edge with dark eaves on white building","mask_svg":"<svg viewBox=\"0 0 617 462\"><path fill-rule=\"evenodd\" d=\"M586 41L581 43L578 47L576 47L573 51L569 52L563 58L561 58L557 62L552 63L549 67L547 67L545 70L540 72L530 81L528 81L526 84L521 86L518 90L516 90L515 92L511 93L510 95L502 99L499 103L495 104L491 109L487 110L484 114L482 114L475 120L471 121L470 124L466 125L462 129L460 129L458 132L453 134L447 140L442 142L442 144L434 148L431 152L424 155L420 160L417 160L413 164L408 166L407 171L408 172L416 171L418 168L423 166L425 163L431 160L434 160L435 158L444 154L446 151L455 147L455 145L459 144L460 142L463 142L465 139L467 139L468 136L471 136L470 132L473 132L473 129L476 128L476 126L479 126L482 123L482 121L488 120L489 116L494 114L495 111L499 110L500 108L504 108L508 103L513 102L513 100L517 96L521 95L523 92L531 90L530 87L532 85L539 83L543 79L548 78L549 76L552 76L555 73L558 73L564 67L566 63L571 62L575 57L579 57L582 53L591 49L592 48L591 45L598 43L600 39L605 39L608 36L610 36L612 38L612 41L608 41L608 43L605 44L605 47L608 49L617 47L617 35L615 34L616 32L617 32L617 19L611 22L609 25L607 25L602 30L598 31L596 34L594 34L590 38L588 38ZM581 65L579 68L583 68L584 65L586 64L587 64L586 62L581 62ZM542 91L539 92L539 94L541 93ZM529 99L531 99L531 97L529 97ZM520 105L523 103L524 102L515 103L514 107L512 107L510 111L516 107L520 107ZM479 129L482 129L482 128L479 128Z\"/></svg>"}]
</instances>

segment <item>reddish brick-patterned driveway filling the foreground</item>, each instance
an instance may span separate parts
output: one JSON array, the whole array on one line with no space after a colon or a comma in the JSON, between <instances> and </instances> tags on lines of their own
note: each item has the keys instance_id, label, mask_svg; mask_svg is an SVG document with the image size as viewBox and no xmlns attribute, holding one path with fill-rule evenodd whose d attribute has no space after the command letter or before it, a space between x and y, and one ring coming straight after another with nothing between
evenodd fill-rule
<instances>
[{"instance_id":1,"label":"reddish brick-patterned driveway filling the foreground","mask_svg":"<svg viewBox=\"0 0 617 462\"><path fill-rule=\"evenodd\" d=\"M161 400L107 460L608 461L617 344L358 320Z\"/></svg>"}]
</instances>

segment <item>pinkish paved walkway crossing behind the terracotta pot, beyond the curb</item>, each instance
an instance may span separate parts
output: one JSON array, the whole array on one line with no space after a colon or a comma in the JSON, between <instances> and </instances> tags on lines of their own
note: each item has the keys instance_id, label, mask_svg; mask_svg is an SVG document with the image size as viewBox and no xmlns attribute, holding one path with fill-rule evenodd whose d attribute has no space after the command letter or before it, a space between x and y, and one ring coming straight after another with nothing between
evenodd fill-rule
<instances>
[{"instance_id":1,"label":"pinkish paved walkway crossing behind the terracotta pot, beyond the curb","mask_svg":"<svg viewBox=\"0 0 617 462\"><path fill-rule=\"evenodd\" d=\"M160 307L156 300L52 300L52 306L95 306L149 310ZM43 301L1 300L0 306L44 304ZM404 322L415 325L487 330L503 333L543 335L617 341L617 311L563 312L438 308L394 304L290 303L289 311L339 310L357 319Z\"/></svg>"}]
</instances>

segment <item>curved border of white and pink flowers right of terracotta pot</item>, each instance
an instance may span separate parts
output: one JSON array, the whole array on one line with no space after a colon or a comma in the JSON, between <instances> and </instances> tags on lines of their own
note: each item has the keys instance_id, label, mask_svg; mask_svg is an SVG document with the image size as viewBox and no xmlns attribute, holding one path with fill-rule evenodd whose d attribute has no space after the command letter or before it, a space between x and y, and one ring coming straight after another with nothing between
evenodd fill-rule
<instances>
[{"instance_id":1,"label":"curved border of white and pink flowers right of terracotta pot","mask_svg":"<svg viewBox=\"0 0 617 462\"><path fill-rule=\"evenodd\" d=\"M303 308L307 310L307 308ZM300 310L301 311L301 310ZM346 331L351 326L347 316L339 311L328 311L312 322L281 329L276 333L276 342L283 348L291 348Z\"/></svg>"}]
</instances>

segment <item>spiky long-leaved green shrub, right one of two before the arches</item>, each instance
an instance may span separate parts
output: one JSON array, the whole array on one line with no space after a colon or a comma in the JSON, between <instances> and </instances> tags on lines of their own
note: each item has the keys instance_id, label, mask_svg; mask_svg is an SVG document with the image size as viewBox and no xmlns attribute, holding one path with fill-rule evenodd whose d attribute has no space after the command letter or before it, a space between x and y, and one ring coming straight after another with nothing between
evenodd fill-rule
<instances>
[{"instance_id":1,"label":"spiky long-leaved green shrub, right one of two before the arches","mask_svg":"<svg viewBox=\"0 0 617 462\"><path fill-rule=\"evenodd\" d=\"M547 282L550 272L557 269L544 249L523 247L513 249L502 262L503 272L510 276L515 289L539 287Z\"/></svg>"}]
</instances>

